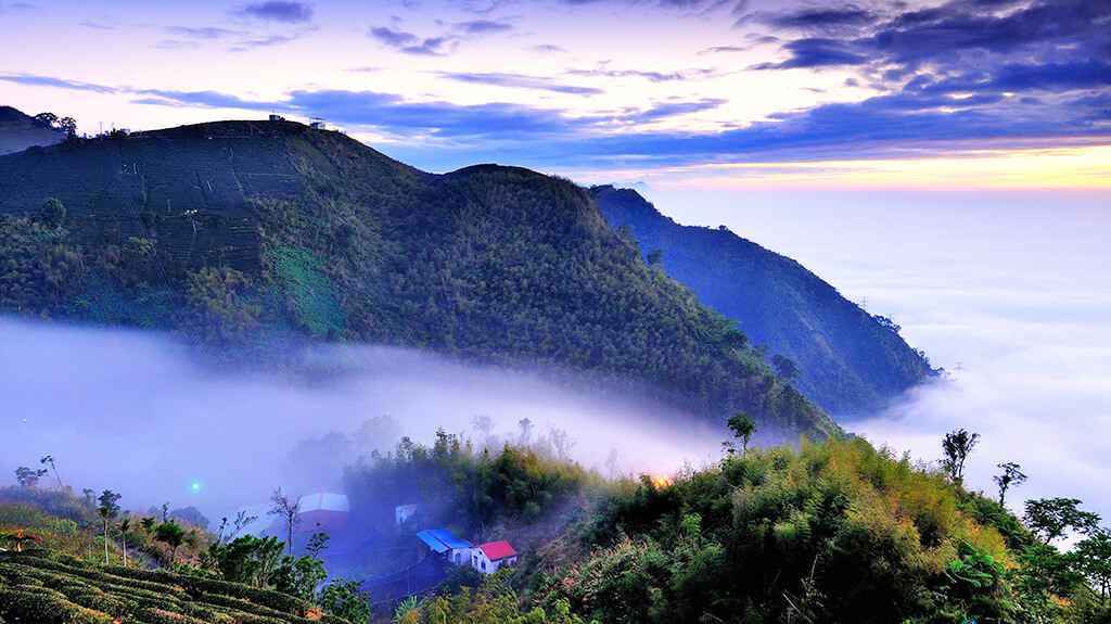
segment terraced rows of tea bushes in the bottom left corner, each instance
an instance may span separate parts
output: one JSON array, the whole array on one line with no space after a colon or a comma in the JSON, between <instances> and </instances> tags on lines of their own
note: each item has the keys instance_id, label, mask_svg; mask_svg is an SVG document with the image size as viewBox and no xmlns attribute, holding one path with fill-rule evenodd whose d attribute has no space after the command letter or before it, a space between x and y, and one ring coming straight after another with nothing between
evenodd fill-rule
<instances>
[{"instance_id":1,"label":"terraced rows of tea bushes in the bottom left corner","mask_svg":"<svg viewBox=\"0 0 1111 624\"><path fill-rule=\"evenodd\" d=\"M286 594L41 552L0 553L6 624L344 624Z\"/></svg>"}]
</instances>

